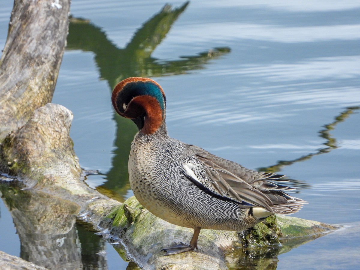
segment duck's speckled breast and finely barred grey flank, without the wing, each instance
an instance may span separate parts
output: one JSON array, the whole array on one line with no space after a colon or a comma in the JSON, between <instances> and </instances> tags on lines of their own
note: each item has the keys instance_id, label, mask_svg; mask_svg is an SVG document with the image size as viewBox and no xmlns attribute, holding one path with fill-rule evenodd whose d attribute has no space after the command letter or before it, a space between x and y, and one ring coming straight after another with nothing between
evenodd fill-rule
<instances>
[{"instance_id":1,"label":"duck's speckled breast and finely barred grey flank, without the wing","mask_svg":"<svg viewBox=\"0 0 360 270\"><path fill-rule=\"evenodd\" d=\"M139 202L154 215L184 227L248 228L241 219L246 208L218 199L188 179L184 164L192 156L186 153L186 144L165 135L165 125L150 135L153 138L139 132L131 145L129 178Z\"/></svg>"}]
</instances>

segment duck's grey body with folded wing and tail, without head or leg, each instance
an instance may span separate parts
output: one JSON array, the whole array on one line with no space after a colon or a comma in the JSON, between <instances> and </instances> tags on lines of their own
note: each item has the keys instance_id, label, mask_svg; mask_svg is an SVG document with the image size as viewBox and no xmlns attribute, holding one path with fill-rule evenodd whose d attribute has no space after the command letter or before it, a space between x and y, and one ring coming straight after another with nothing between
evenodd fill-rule
<instances>
[{"instance_id":1,"label":"duck's grey body with folded wing and tail, without head or leg","mask_svg":"<svg viewBox=\"0 0 360 270\"><path fill-rule=\"evenodd\" d=\"M153 135L135 136L129 174L140 203L154 215L189 228L243 230L260 221L249 212L252 207L289 214L304 203L270 181L281 176L249 170L172 139L165 123Z\"/></svg>"}]
</instances>

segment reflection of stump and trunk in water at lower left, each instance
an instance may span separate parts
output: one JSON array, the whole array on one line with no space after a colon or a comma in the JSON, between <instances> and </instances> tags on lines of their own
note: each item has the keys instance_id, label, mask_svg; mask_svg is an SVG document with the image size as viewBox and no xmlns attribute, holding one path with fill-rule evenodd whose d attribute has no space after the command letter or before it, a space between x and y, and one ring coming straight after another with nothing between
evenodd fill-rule
<instances>
[{"instance_id":1,"label":"reflection of stump and trunk in water at lower left","mask_svg":"<svg viewBox=\"0 0 360 270\"><path fill-rule=\"evenodd\" d=\"M107 267L99 255L105 240L76 224L77 204L14 184L1 183L0 194L19 235L22 259L47 269Z\"/></svg>"}]
</instances>

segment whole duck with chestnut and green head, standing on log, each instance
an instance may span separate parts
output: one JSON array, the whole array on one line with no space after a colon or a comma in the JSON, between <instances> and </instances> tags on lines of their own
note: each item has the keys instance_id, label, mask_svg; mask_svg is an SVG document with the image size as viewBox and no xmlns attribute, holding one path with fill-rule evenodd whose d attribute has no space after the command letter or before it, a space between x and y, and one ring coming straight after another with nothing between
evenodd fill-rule
<instances>
[{"instance_id":1,"label":"whole duck with chestnut and green head, standing on log","mask_svg":"<svg viewBox=\"0 0 360 270\"><path fill-rule=\"evenodd\" d=\"M189 244L163 248L165 255L198 249L201 229L243 231L267 217L292 214L306 201L284 175L258 172L168 135L166 97L154 80L130 77L111 95L120 116L138 127L129 155L129 181L136 199L153 215L194 229Z\"/></svg>"}]
</instances>

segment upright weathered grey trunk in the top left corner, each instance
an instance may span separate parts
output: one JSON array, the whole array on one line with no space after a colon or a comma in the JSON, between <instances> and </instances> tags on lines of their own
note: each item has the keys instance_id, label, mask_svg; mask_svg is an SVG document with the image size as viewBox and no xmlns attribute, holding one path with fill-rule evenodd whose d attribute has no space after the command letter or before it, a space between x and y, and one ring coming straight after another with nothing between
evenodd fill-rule
<instances>
[{"instance_id":1,"label":"upright weathered grey trunk in the top left corner","mask_svg":"<svg viewBox=\"0 0 360 270\"><path fill-rule=\"evenodd\" d=\"M0 59L0 141L51 101L70 0L15 0Z\"/></svg>"}]
</instances>

